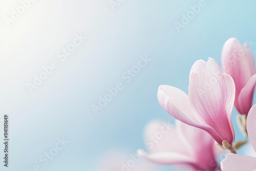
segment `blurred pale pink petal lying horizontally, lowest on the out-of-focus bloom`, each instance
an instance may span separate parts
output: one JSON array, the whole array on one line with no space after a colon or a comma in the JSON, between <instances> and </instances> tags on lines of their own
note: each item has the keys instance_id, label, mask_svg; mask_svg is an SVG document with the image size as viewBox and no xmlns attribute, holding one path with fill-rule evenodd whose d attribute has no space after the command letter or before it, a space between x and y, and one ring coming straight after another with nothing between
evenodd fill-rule
<instances>
[{"instance_id":1,"label":"blurred pale pink petal lying horizontally, lowest on the out-of-focus bloom","mask_svg":"<svg viewBox=\"0 0 256 171\"><path fill-rule=\"evenodd\" d=\"M182 155L179 153L162 152L162 153L147 154L142 149L139 149L137 153L141 157L145 158L146 160L149 160L158 164L194 164L196 163L195 159L193 159L192 157Z\"/></svg>"}]
</instances>

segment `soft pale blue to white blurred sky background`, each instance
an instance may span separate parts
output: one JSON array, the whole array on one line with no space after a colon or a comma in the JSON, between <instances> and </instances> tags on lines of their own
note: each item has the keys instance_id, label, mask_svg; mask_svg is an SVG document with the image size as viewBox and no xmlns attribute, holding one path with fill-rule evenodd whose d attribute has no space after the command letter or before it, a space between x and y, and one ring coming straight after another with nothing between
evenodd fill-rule
<instances>
[{"instance_id":1,"label":"soft pale blue to white blurred sky background","mask_svg":"<svg viewBox=\"0 0 256 171\"><path fill-rule=\"evenodd\" d=\"M0 116L10 115L9 170L40 164L38 157L61 137L69 144L43 170L95 170L114 149L134 154L144 148L148 121L174 121L158 104L160 84L187 93L196 60L212 57L220 63L230 37L256 41L254 1L206 0L178 33L174 22L198 2L124 0L113 11L108 0L37 0L7 27L4 17L20 3L0 1ZM80 33L88 39L60 61L57 52ZM256 54L256 47L251 51ZM124 82L121 75L145 54L150 63L95 115L91 105ZM30 94L27 82L53 60L59 67ZM242 138L238 132L236 139Z\"/></svg>"}]
</instances>

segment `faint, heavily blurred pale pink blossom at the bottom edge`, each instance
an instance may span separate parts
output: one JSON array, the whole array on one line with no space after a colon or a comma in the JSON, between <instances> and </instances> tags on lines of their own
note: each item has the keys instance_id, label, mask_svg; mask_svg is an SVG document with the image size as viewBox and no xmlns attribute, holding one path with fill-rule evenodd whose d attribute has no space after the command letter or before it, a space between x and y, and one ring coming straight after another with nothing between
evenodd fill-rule
<instances>
[{"instance_id":1,"label":"faint, heavily blurred pale pink blossom at the bottom edge","mask_svg":"<svg viewBox=\"0 0 256 171\"><path fill-rule=\"evenodd\" d=\"M124 155L115 153L106 155L99 163L98 171L156 171L155 165L142 159L138 154Z\"/></svg>"}]
</instances>

